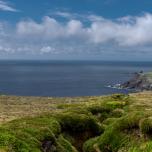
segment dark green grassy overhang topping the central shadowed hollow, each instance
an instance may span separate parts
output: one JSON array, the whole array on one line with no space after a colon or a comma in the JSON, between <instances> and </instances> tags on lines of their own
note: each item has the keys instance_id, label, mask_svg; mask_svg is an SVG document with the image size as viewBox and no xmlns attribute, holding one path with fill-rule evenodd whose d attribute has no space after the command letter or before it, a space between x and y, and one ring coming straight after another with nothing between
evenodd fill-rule
<instances>
[{"instance_id":1,"label":"dark green grassy overhang topping the central shadowed hollow","mask_svg":"<svg viewBox=\"0 0 152 152\"><path fill-rule=\"evenodd\" d=\"M62 130L69 133L77 134L85 131L90 131L93 134L100 134L102 128L99 122L91 115L77 114L66 112L57 116Z\"/></svg>"}]
</instances>

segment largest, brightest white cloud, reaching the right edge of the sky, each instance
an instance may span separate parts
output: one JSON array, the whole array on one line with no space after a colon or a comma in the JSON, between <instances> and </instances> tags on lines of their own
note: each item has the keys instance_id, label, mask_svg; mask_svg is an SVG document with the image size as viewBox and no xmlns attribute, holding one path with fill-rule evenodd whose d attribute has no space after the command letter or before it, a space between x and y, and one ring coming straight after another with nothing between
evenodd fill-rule
<instances>
[{"instance_id":1,"label":"largest, brightest white cloud, reaching the right edge of the sky","mask_svg":"<svg viewBox=\"0 0 152 152\"><path fill-rule=\"evenodd\" d=\"M88 29L95 43L114 42L118 46L152 44L152 14L111 21L102 19Z\"/></svg>"}]
</instances>

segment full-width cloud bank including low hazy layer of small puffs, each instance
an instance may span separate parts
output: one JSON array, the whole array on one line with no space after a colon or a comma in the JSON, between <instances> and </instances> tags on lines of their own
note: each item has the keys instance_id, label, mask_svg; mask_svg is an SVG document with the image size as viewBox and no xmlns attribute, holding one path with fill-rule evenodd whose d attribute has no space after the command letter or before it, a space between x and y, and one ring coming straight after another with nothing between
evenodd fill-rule
<instances>
[{"instance_id":1,"label":"full-width cloud bank including low hazy layer of small puffs","mask_svg":"<svg viewBox=\"0 0 152 152\"><path fill-rule=\"evenodd\" d=\"M141 48L152 48L152 14L150 13L115 20L96 15L88 15L86 18L89 24L79 19L60 22L45 16L41 22L22 20L11 31L0 23L0 51L9 52L12 48L10 52L29 54L30 52L93 54L103 48L107 51L127 51L139 47L140 51Z\"/></svg>"}]
</instances>

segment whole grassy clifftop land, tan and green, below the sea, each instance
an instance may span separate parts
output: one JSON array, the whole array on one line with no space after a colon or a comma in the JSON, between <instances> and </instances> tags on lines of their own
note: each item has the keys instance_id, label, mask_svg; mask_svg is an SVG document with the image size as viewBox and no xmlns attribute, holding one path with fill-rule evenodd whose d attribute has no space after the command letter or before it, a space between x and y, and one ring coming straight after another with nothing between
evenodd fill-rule
<instances>
[{"instance_id":1,"label":"whole grassy clifftop land, tan and green, below the sea","mask_svg":"<svg viewBox=\"0 0 152 152\"><path fill-rule=\"evenodd\" d=\"M0 96L0 152L151 152L152 92Z\"/></svg>"}]
</instances>

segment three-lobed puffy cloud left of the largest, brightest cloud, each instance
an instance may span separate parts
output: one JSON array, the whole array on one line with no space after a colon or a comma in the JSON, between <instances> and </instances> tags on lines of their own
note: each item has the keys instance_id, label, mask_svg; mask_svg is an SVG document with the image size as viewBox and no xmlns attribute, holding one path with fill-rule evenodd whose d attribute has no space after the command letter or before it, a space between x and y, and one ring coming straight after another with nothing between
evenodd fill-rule
<instances>
[{"instance_id":1,"label":"three-lobed puffy cloud left of the largest, brightest cloud","mask_svg":"<svg viewBox=\"0 0 152 152\"><path fill-rule=\"evenodd\" d=\"M85 29L83 29L81 21L70 20L67 24L62 24L54 18L46 16L41 23L32 20L21 21L17 24L16 30L21 37L29 38L31 36L33 39L51 41L80 36Z\"/></svg>"}]
</instances>

